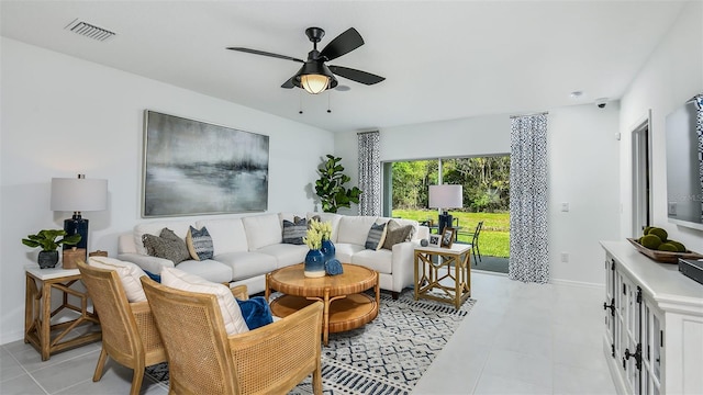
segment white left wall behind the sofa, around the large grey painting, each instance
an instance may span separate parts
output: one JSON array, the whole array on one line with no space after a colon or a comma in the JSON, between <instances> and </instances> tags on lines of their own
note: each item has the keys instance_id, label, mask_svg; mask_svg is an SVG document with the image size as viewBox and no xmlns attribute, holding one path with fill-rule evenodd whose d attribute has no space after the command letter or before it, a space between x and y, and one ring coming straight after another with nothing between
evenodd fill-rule
<instances>
[{"instance_id":1,"label":"white left wall behind the sofa, around the large grey painting","mask_svg":"<svg viewBox=\"0 0 703 395\"><path fill-rule=\"evenodd\" d=\"M270 136L268 211L313 210L331 133L16 41L1 47L0 343L23 332L23 266L37 250L20 239L70 216L49 210L53 177L109 181L109 208L83 213L89 250L114 255L118 235L143 221L145 109Z\"/></svg>"}]
</instances>

